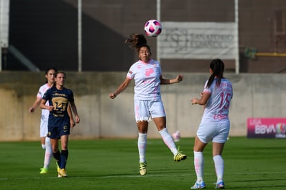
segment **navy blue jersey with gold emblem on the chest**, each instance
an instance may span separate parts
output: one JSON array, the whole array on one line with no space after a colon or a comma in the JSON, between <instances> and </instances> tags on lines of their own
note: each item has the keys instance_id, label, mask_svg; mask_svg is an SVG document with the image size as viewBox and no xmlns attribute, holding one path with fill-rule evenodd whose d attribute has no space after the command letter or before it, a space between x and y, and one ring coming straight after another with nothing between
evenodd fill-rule
<instances>
[{"instance_id":1,"label":"navy blue jersey with gold emblem on the chest","mask_svg":"<svg viewBox=\"0 0 286 190\"><path fill-rule=\"evenodd\" d=\"M70 125L70 117L68 116L68 102L73 103L73 91L68 88L58 90L55 86L46 91L43 99L47 100L54 106L48 117L48 126L64 126Z\"/></svg>"}]
</instances>

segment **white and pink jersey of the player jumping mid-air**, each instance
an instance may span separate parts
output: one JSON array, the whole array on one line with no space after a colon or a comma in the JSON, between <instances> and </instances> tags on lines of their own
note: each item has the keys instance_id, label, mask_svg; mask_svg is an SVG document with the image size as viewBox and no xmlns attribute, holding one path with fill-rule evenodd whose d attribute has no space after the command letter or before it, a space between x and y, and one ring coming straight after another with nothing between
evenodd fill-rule
<instances>
[{"instance_id":1,"label":"white and pink jersey of the player jumping mid-air","mask_svg":"<svg viewBox=\"0 0 286 190\"><path fill-rule=\"evenodd\" d=\"M126 76L135 81L134 99L160 100L160 75L162 70L158 61L150 59L148 63L141 60L135 62Z\"/></svg>"}]
</instances>

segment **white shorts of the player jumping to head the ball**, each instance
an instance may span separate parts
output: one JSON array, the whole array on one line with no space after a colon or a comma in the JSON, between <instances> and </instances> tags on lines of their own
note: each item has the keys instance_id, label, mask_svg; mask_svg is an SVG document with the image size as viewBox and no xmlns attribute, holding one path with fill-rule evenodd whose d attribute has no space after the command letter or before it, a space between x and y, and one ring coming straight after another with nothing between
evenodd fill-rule
<instances>
[{"instance_id":1,"label":"white shorts of the player jumping to head the ball","mask_svg":"<svg viewBox=\"0 0 286 190\"><path fill-rule=\"evenodd\" d=\"M151 121L155 117L166 117L163 102L161 100L134 99L135 120Z\"/></svg>"}]
</instances>

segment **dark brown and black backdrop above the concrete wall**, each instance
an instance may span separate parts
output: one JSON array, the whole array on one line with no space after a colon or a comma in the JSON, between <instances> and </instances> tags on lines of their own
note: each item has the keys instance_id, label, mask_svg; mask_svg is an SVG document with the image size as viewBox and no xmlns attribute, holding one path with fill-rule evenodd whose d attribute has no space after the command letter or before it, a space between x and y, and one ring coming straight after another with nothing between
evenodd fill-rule
<instances>
[{"instance_id":1,"label":"dark brown and black backdrop above the concrete wall","mask_svg":"<svg viewBox=\"0 0 286 190\"><path fill-rule=\"evenodd\" d=\"M285 0L239 0L240 73L286 73L285 57L245 57L245 48L258 53L285 53ZM156 1L82 1L82 70L127 71L137 54L124 44L130 33L144 32L156 18ZM162 0L161 21L233 22L234 1ZM9 45L15 46L40 70L55 66L77 70L77 0L10 0ZM164 30L164 29L163 29ZM218 31L219 32L219 31ZM156 40L148 38L153 58ZM28 70L3 50L3 70ZM227 72L234 60L224 60ZM208 72L210 60L162 59L164 71Z\"/></svg>"}]
</instances>

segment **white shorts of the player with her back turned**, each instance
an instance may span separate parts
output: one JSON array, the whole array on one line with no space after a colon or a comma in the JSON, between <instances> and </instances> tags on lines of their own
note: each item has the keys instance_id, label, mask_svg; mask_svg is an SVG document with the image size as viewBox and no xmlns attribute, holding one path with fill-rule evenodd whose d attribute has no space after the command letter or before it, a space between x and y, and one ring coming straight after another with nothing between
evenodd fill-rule
<instances>
[{"instance_id":1,"label":"white shorts of the player with her back turned","mask_svg":"<svg viewBox=\"0 0 286 190\"><path fill-rule=\"evenodd\" d=\"M197 136L201 142L207 144L212 142L225 143L229 136L229 120L223 122L204 122L200 123Z\"/></svg>"}]
</instances>

